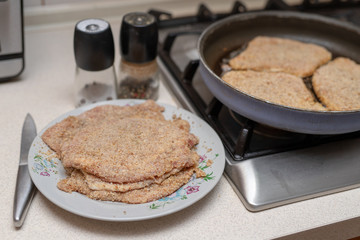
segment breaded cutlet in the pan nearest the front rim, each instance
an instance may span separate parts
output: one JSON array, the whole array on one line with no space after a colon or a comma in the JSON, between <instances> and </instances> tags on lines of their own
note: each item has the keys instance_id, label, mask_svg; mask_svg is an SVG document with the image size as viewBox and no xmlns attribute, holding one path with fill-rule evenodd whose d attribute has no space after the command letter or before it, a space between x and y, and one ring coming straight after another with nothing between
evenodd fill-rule
<instances>
[{"instance_id":1,"label":"breaded cutlet in the pan nearest the front rim","mask_svg":"<svg viewBox=\"0 0 360 240\"><path fill-rule=\"evenodd\" d=\"M222 79L253 97L283 106L325 110L315 101L303 80L287 73L230 71Z\"/></svg>"}]
</instances>

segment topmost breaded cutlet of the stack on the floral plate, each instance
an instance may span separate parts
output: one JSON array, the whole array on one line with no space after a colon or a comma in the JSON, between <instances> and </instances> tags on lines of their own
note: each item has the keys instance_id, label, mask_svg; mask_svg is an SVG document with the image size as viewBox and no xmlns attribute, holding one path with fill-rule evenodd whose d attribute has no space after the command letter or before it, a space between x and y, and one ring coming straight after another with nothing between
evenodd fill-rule
<instances>
[{"instance_id":1,"label":"topmost breaded cutlet of the stack on the floral plate","mask_svg":"<svg viewBox=\"0 0 360 240\"><path fill-rule=\"evenodd\" d=\"M111 119L85 125L62 145L61 161L107 182L138 182L192 166L199 156L190 139L170 121Z\"/></svg>"}]
</instances>

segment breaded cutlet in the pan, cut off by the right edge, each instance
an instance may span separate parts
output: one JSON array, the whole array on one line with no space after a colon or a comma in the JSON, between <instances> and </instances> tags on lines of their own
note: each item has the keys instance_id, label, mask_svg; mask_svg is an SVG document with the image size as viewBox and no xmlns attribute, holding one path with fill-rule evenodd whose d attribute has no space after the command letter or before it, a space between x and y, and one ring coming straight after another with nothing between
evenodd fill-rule
<instances>
[{"instance_id":1,"label":"breaded cutlet in the pan, cut off by the right edge","mask_svg":"<svg viewBox=\"0 0 360 240\"><path fill-rule=\"evenodd\" d=\"M312 84L329 110L360 109L360 65L354 61L336 58L315 72Z\"/></svg>"}]
</instances>

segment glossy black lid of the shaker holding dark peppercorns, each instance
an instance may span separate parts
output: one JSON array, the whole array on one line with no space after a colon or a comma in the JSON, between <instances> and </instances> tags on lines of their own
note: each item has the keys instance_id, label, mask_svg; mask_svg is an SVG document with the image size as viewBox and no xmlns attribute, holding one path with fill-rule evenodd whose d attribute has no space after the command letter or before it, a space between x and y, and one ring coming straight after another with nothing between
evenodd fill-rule
<instances>
[{"instance_id":1,"label":"glossy black lid of the shaker holding dark peppercorns","mask_svg":"<svg viewBox=\"0 0 360 240\"><path fill-rule=\"evenodd\" d=\"M123 17L120 30L121 56L131 63L145 63L157 56L158 28L154 16L132 12Z\"/></svg>"}]
</instances>

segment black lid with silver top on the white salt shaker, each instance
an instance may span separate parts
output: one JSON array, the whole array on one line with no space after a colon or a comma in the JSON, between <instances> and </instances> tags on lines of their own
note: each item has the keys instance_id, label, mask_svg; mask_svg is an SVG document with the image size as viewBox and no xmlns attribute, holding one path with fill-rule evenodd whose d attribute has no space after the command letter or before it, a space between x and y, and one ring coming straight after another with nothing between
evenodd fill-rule
<instances>
[{"instance_id":1,"label":"black lid with silver top on the white salt shaker","mask_svg":"<svg viewBox=\"0 0 360 240\"><path fill-rule=\"evenodd\" d=\"M74 54L77 66L100 71L114 63L114 39L110 24L102 19L78 22L74 32Z\"/></svg>"}]
</instances>

